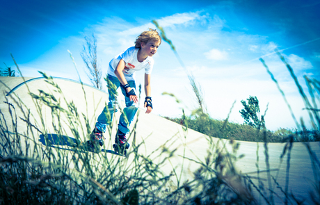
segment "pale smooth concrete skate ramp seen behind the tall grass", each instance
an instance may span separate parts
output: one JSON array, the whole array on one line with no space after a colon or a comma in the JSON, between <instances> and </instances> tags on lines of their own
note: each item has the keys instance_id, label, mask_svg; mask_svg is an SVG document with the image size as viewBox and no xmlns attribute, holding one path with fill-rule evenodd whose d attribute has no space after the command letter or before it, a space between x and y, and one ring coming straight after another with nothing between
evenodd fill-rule
<instances>
[{"instance_id":1,"label":"pale smooth concrete skate ramp seen behind the tall grass","mask_svg":"<svg viewBox=\"0 0 320 205\"><path fill-rule=\"evenodd\" d=\"M65 138L71 139L70 143L72 143L72 139L75 136L78 136L77 140L86 141L88 139L88 130L93 128L97 116L108 102L108 94L106 92L97 90L89 85L81 85L81 83L76 81L61 78L51 79L48 83L48 80L45 78L22 79L19 77L0 77L0 92L0 109L1 115L3 115L0 119L8 121L6 122L8 131L22 133L22 136L26 138L22 141L26 142L26 144L29 143L31 146L35 146L35 144L45 146L43 145L41 133L37 129L50 133L52 138L54 138L59 123L61 123L61 127L63 128L61 133L63 133ZM31 93L33 93L33 97L31 97ZM42 100L46 101L46 103L40 103L36 100L37 97L42 97ZM72 106L71 108L70 105ZM15 118L13 107L17 113L17 130L15 130L15 126L10 122L11 116ZM24 109L22 110L19 107ZM65 115L58 108L77 113L79 120L74 120L70 116L68 117L68 115ZM61 112L61 115L58 115L61 118L52 117L52 112ZM115 135L115 125L118 124L119 115L120 112L115 114L113 126L108 133L105 133L106 143L102 149L110 155L114 154L112 144ZM31 124L26 124L26 119L31 119ZM78 129L74 130L76 127ZM181 175L177 174L182 182L194 179L194 173L200 168L200 164L205 164L208 160L208 150L214 149L220 150L224 154L229 152L230 155L237 158L237 161L233 161L235 169L241 172L241 174L247 174L251 177L256 186L259 186L257 182L257 177L259 177L266 187L264 192L266 197L269 196L268 186L271 184L271 190L275 192L273 197L276 204L284 202L283 190L285 190L287 176L289 176L289 183L287 181L289 184L288 190L296 195L296 197L308 198L310 191L313 190L315 175L314 170L312 170L310 151L308 151L307 146L312 150L312 154L319 158L319 142L310 142L307 145L301 142L294 142L289 158L290 167L287 169L287 155L280 158L285 144L267 144L268 155L266 156L266 147L264 147L264 143L262 142L230 142L230 140L210 138L197 131L184 129L184 126L166 120L158 115L153 115L152 113L147 115L144 109L139 109L136 120L131 124L131 129L134 130L134 133L130 134L128 138L129 142L141 145L138 150L141 154L157 158L157 161L153 163L160 162L161 154L163 153L173 154L173 157L166 161L165 165L159 167L159 169L168 175L173 170L176 173L182 173ZM36 138L35 140L28 140L31 130ZM237 148L238 143L239 148ZM56 147L68 150L70 144L58 143ZM173 150L174 152L172 152ZM133 158L134 156L129 154L125 160L130 162ZM226 166L232 165L226 164ZM315 171L319 172L319 167ZM269 177L269 173L273 179ZM271 181L269 181L270 179ZM282 190L280 187L282 187ZM262 202L264 204L264 200L259 197L255 188L253 190L258 203Z\"/></svg>"}]
</instances>

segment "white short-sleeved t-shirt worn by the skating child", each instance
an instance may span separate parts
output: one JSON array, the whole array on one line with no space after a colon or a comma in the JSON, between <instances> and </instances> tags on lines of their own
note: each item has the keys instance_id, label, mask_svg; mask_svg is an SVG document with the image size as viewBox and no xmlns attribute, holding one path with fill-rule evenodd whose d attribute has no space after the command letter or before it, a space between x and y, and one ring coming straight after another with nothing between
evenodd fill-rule
<instances>
[{"instance_id":1,"label":"white short-sleeved t-shirt worn by the skating child","mask_svg":"<svg viewBox=\"0 0 320 205\"><path fill-rule=\"evenodd\" d=\"M134 81L135 72L141 69L145 69L145 74L151 74L154 65L153 58L147 56L143 62L139 62L137 56L138 50L139 48L129 47L129 49L123 51L118 56L115 56L115 58L113 58L109 63L108 74L115 76L115 69L117 68L117 65L121 59L125 61L125 69L123 69L123 74L125 74L125 79L127 81Z\"/></svg>"}]
</instances>

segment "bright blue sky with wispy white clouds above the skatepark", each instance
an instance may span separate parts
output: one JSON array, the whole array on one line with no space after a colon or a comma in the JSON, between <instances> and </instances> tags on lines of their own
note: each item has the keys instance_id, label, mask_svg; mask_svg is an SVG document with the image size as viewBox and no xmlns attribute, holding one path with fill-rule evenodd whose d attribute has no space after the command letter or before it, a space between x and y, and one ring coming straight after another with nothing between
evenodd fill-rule
<instances>
[{"instance_id":1,"label":"bright blue sky with wispy white clouds above the skatepark","mask_svg":"<svg viewBox=\"0 0 320 205\"><path fill-rule=\"evenodd\" d=\"M289 72L273 53L281 51L305 88L303 75L320 79L320 1L3 1L0 8L0 67L24 76L51 76L90 84L81 60L85 35L95 33L99 66L104 76L109 60L134 45L134 40L157 20L195 76L211 117L242 123L241 100L259 99L266 126L293 128L294 120L259 58L285 92L294 115L307 122L307 112ZM191 113L196 106L189 80L179 61L163 42L154 56L153 113L170 117ZM143 72L137 73L143 83ZM172 92L182 100L161 95Z\"/></svg>"}]
</instances>

